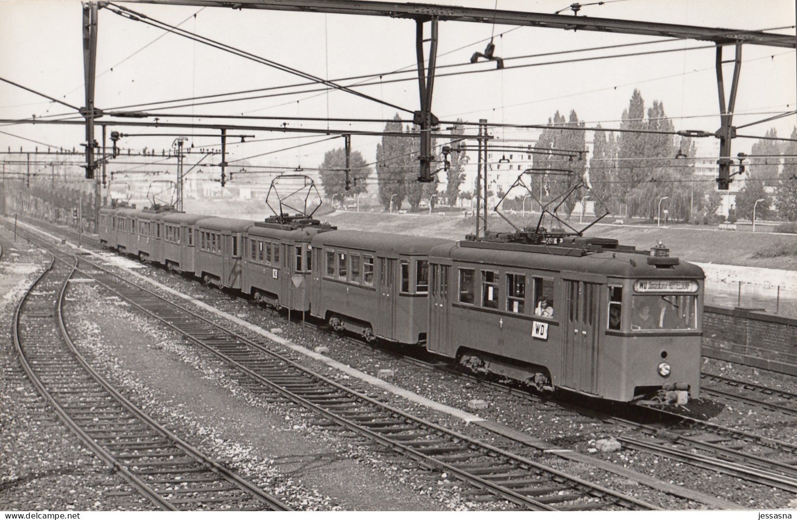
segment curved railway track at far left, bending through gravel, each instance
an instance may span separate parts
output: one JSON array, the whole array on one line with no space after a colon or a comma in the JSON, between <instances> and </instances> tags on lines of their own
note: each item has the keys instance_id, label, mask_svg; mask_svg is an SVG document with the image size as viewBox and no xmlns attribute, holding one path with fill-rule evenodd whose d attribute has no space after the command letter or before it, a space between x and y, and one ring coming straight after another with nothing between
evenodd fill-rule
<instances>
[{"instance_id":1,"label":"curved railway track at far left, bending through gravel","mask_svg":"<svg viewBox=\"0 0 797 520\"><path fill-rule=\"evenodd\" d=\"M14 313L14 348L22 368L57 416L163 510L289 510L160 426L80 356L61 313L78 262L53 256Z\"/></svg>"}]
</instances>

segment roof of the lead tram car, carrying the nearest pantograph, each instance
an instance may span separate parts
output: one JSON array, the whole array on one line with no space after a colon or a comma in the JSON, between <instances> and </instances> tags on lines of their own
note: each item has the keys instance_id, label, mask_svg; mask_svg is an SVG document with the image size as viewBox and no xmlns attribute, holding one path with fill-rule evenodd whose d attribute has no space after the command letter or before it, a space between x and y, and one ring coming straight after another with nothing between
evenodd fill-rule
<instances>
[{"instance_id":1,"label":"roof of the lead tram car, carrying the nearest pantograph","mask_svg":"<svg viewBox=\"0 0 797 520\"><path fill-rule=\"evenodd\" d=\"M678 258L651 257L633 250L591 251L563 246L462 241L454 246L435 247L430 251L430 257L618 278L705 278L703 270L689 262L681 262Z\"/></svg>"}]
</instances>

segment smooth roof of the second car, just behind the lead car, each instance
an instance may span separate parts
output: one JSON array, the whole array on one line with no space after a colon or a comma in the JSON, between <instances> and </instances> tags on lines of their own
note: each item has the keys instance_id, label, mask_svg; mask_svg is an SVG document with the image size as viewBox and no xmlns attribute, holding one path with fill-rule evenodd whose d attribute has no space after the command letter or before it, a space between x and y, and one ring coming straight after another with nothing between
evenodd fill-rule
<instances>
[{"instance_id":1,"label":"smooth roof of the second car, just behind the lead car","mask_svg":"<svg viewBox=\"0 0 797 520\"><path fill-rule=\"evenodd\" d=\"M392 251L398 254L428 254L435 246L453 246L446 238L414 237L408 234L372 231L334 230L316 234L312 246L347 247L368 251Z\"/></svg>"}]
</instances>

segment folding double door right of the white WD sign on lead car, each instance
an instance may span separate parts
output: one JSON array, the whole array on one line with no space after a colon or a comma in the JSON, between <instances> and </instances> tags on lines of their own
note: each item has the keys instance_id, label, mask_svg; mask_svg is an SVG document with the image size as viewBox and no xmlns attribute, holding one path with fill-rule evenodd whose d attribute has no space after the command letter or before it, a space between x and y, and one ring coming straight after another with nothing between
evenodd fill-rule
<instances>
[{"instance_id":1,"label":"folding double door right of the white WD sign on lead car","mask_svg":"<svg viewBox=\"0 0 797 520\"><path fill-rule=\"evenodd\" d=\"M565 313L562 386L598 392L601 284L564 280Z\"/></svg>"}]
</instances>

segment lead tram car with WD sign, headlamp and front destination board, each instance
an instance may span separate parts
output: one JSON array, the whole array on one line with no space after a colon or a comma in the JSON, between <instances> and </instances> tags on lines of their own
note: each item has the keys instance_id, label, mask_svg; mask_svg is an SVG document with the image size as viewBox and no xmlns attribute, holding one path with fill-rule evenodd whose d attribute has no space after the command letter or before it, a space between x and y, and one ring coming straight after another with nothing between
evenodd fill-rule
<instances>
[{"instance_id":1,"label":"lead tram car with WD sign, headlamp and front destination board","mask_svg":"<svg viewBox=\"0 0 797 520\"><path fill-rule=\"evenodd\" d=\"M430 253L428 348L600 399L700 391L703 271L601 238L465 240Z\"/></svg>"}]
</instances>

